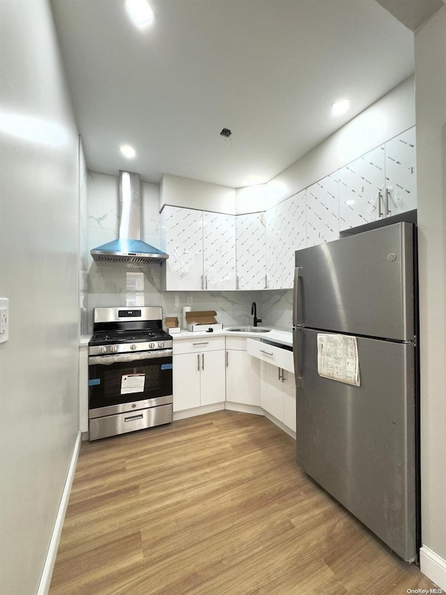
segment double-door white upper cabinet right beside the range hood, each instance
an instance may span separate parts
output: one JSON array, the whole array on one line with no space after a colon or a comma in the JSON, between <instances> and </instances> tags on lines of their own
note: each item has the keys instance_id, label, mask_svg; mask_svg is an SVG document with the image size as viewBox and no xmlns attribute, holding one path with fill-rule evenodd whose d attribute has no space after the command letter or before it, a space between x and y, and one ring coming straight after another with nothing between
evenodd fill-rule
<instances>
[{"instance_id":1,"label":"double-door white upper cabinet right beside the range hood","mask_svg":"<svg viewBox=\"0 0 446 595\"><path fill-rule=\"evenodd\" d=\"M236 289L235 216L164 206L161 236L163 291Z\"/></svg>"}]
</instances>

